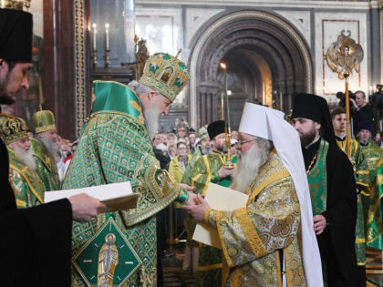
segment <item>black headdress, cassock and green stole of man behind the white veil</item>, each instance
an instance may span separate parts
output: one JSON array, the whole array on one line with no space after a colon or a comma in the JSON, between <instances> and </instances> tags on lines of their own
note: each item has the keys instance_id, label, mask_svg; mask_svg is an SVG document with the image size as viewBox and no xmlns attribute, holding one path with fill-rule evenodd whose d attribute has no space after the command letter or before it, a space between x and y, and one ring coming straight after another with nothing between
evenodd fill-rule
<instances>
[{"instance_id":1,"label":"black headdress, cassock and green stole of man behind the white veil","mask_svg":"<svg viewBox=\"0 0 383 287\"><path fill-rule=\"evenodd\" d=\"M357 189L352 165L346 154L336 145L334 128L323 97L309 94L296 95L293 101L292 118L295 128L300 133L301 141L301 130L296 122L303 118L321 125L320 137L310 145L302 147L302 150L313 212L326 219L324 231L316 237L324 279L329 287L357 286L354 246ZM323 190L326 191L323 192ZM318 194L318 191L322 193ZM320 204L324 205L322 210ZM316 210L319 211L316 213Z\"/></svg>"}]
</instances>

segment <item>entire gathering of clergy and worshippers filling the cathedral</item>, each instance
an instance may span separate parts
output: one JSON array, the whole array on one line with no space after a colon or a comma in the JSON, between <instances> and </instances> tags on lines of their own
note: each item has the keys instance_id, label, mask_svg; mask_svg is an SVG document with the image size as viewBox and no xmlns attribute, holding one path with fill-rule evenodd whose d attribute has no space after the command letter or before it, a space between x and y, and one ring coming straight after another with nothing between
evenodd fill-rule
<instances>
[{"instance_id":1,"label":"entire gathering of clergy and worshippers filling the cathedral","mask_svg":"<svg viewBox=\"0 0 383 287\"><path fill-rule=\"evenodd\" d=\"M2 104L28 88L32 23L0 9ZM49 110L33 115L33 135L24 119L0 118L5 286L161 285L159 234L170 223L159 215L173 202L187 213L184 267L201 286L366 286L366 249L382 250L383 149L371 121L357 120L347 150L345 110L299 94L288 116L246 103L230 142L223 120L196 132L178 119L159 133L189 77L177 56L157 53L129 86L94 81L72 144ZM109 210L84 193L44 202L46 191L123 181L140 194L134 209ZM210 183L243 192L246 205L213 209L203 197ZM197 222L221 249L192 241Z\"/></svg>"}]
</instances>

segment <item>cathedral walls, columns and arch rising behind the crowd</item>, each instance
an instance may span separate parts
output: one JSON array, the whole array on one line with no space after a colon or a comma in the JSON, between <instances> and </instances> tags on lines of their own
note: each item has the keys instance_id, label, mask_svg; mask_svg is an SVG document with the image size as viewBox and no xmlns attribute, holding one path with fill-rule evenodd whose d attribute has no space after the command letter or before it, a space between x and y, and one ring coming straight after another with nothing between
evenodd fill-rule
<instances>
[{"instance_id":1,"label":"cathedral walls, columns and arch rising behind the crowd","mask_svg":"<svg viewBox=\"0 0 383 287\"><path fill-rule=\"evenodd\" d=\"M2 112L31 125L37 110L51 110L57 133L72 141L90 114L92 81L137 80L148 53L180 53L191 74L169 115L160 118L163 133L171 132L177 118L195 130L222 118L225 77L233 130L245 102L289 114L295 94L311 93L336 107L345 81L327 65L326 53L341 35L351 36L364 52L349 89L372 95L383 84L383 0L31 0L29 5L30 87ZM383 286L382 265L374 266L370 286Z\"/></svg>"}]
</instances>

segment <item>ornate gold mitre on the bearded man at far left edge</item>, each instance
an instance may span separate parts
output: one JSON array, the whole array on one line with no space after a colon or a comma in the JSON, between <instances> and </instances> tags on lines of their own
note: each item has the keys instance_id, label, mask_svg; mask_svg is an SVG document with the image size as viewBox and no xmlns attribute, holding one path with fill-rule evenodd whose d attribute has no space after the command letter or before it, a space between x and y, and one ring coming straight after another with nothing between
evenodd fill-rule
<instances>
[{"instance_id":1,"label":"ornate gold mitre on the bearded man at far left edge","mask_svg":"<svg viewBox=\"0 0 383 287\"><path fill-rule=\"evenodd\" d=\"M28 138L26 122L23 118L3 118L0 122L1 136L6 145L19 139Z\"/></svg>"}]
</instances>

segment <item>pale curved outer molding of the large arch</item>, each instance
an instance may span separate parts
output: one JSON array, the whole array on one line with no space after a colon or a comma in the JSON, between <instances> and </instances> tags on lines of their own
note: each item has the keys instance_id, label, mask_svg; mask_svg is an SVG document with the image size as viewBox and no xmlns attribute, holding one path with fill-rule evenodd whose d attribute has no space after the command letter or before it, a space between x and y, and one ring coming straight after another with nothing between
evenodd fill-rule
<instances>
[{"instance_id":1,"label":"pale curved outer molding of the large arch","mask_svg":"<svg viewBox=\"0 0 383 287\"><path fill-rule=\"evenodd\" d=\"M190 118L191 126L197 127L197 81L200 78L198 74L199 65L201 64L201 54L204 52L205 46L212 41L213 35L217 30L223 29L228 23L235 23L235 21L241 21L245 19L254 19L257 21L264 21L264 26L276 26L279 30L283 31L288 36L293 44L299 50L299 54L302 56L302 61L305 68L305 86L306 91L311 93L313 91L313 64L310 52L305 44L305 40L295 31L295 29L280 17L264 12L264 11L238 11L229 15L223 15L217 21L212 23L211 26L207 27L202 35L198 38L195 46L192 49L189 67L191 70L191 83L190 83ZM220 53L218 53L220 54ZM221 54L224 55L224 54ZM212 68L212 67L211 67Z\"/></svg>"}]
</instances>

